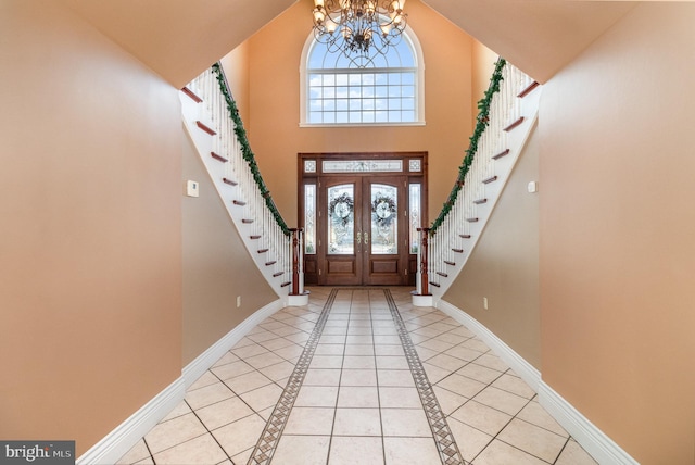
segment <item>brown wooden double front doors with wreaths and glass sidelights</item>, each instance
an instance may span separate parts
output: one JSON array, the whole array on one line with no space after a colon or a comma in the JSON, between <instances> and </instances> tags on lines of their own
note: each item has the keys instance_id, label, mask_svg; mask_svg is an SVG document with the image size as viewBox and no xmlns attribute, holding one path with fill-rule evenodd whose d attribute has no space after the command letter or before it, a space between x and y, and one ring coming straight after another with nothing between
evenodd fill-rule
<instances>
[{"instance_id":1,"label":"brown wooden double front doors with wreaths and glass sidelights","mask_svg":"<svg viewBox=\"0 0 695 465\"><path fill-rule=\"evenodd\" d=\"M340 163L326 167L338 169ZM407 160L389 163L383 166L408 166ZM378 169L380 165L371 166ZM306 282L412 284L417 257L417 237L413 231L421 226L424 173L402 169L317 175L301 180Z\"/></svg>"}]
</instances>

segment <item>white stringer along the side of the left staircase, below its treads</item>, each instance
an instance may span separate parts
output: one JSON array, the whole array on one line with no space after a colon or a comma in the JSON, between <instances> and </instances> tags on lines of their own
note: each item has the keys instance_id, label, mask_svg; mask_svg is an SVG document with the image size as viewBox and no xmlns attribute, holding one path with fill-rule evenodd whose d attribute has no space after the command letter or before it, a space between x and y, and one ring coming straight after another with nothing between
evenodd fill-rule
<instances>
[{"instance_id":1,"label":"white stringer along the side of the left staircase, below its treads","mask_svg":"<svg viewBox=\"0 0 695 465\"><path fill-rule=\"evenodd\" d=\"M230 186L224 183L225 178L225 163L215 160L211 156L211 152L213 151L213 137L203 130L201 130L197 122L201 122L210 127L213 126L212 116L206 110L206 106L194 102L184 92L179 92L179 98L181 101L181 115L184 128L188 137L193 143L198 155L200 156L203 165L205 166L205 171L210 176L210 179L215 186L215 190L219 196L219 199L225 206L225 210L229 214L232 224L235 225L241 240L243 241L244 247L247 248L247 252L253 262L255 263L258 271L262 273L263 277L266 279L268 285L273 288L273 290L278 294L280 299L282 299L283 303L288 303L288 290L283 288L282 281L285 280L282 276L274 276L275 273L280 272L277 265L267 266L266 263L270 261L277 261L278 264L281 263L278 256L276 256L275 249L277 247L273 247L273 244L268 243L268 238L264 236L264 231L260 230L258 226L256 226L256 221L254 223L244 224L242 219L248 219L248 215L244 215L245 208L240 205L235 205L233 200L249 202L249 198L245 194L244 190L241 186L241 179L235 179L239 183L237 186ZM258 235L260 239L251 239L252 236ZM287 243L289 250L289 239ZM267 252L257 253L257 250L268 249Z\"/></svg>"}]
</instances>

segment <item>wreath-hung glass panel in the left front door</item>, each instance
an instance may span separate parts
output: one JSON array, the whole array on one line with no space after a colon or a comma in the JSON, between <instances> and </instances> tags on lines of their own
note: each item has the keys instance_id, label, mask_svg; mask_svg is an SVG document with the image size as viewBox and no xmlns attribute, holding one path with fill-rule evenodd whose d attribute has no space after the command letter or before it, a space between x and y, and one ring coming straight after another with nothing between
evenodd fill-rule
<instances>
[{"instance_id":1,"label":"wreath-hung glass panel in the left front door","mask_svg":"<svg viewBox=\"0 0 695 465\"><path fill-rule=\"evenodd\" d=\"M328 253L353 254L355 242L355 185L328 188Z\"/></svg>"}]
</instances>

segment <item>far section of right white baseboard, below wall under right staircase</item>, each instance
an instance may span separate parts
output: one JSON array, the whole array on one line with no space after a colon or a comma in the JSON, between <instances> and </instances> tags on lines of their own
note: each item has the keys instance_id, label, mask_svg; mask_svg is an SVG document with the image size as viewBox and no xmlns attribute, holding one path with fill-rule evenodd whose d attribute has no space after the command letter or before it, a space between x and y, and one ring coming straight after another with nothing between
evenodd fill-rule
<instances>
[{"instance_id":1,"label":"far section of right white baseboard, below wall under right staircase","mask_svg":"<svg viewBox=\"0 0 695 465\"><path fill-rule=\"evenodd\" d=\"M476 318L448 302L438 300L437 307L473 331L475 335L482 339L482 341L486 343L488 347L504 361L504 363L509 365L509 367L519 375L521 379L531 387L531 389L535 392L539 391L541 372L527 362L521 355L516 353L502 339L495 336L494 332L479 323Z\"/></svg>"}]
</instances>

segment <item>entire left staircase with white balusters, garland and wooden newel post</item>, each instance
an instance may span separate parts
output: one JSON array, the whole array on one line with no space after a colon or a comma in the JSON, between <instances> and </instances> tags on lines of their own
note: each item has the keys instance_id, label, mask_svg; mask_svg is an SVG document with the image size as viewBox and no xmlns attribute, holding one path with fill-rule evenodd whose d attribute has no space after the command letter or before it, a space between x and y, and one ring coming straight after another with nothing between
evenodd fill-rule
<instances>
[{"instance_id":1,"label":"entire left staircase with white balusters, garland and wooden newel post","mask_svg":"<svg viewBox=\"0 0 695 465\"><path fill-rule=\"evenodd\" d=\"M305 305L302 230L278 212L219 64L180 92L184 125L256 266L286 305Z\"/></svg>"}]
</instances>

